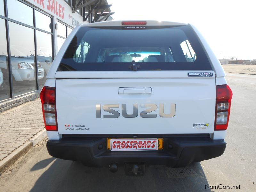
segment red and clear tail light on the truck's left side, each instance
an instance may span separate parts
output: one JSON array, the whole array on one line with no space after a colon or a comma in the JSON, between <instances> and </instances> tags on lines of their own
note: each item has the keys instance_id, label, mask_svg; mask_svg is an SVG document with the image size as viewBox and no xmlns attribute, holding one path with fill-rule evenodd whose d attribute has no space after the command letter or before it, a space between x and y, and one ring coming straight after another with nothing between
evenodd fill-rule
<instances>
[{"instance_id":1,"label":"red and clear tail light on the truck's left side","mask_svg":"<svg viewBox=\"0 0 256 192\"><path fill-rule=\"evenodd\" d=\"M40 93L46 131L58 131L55 87L46 87Z\"/></svg>"}]
</instances>

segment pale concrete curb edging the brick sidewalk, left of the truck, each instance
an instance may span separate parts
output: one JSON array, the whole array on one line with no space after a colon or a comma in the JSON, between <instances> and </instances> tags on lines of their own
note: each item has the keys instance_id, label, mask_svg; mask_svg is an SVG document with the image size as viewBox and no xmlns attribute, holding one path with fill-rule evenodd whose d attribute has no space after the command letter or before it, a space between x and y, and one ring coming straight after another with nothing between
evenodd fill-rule
<instances>
[{"instance_id":1,"label":"pale concrete curb edging the brick sidewalk, left of the truck","mask_svg":"<svg viewBox=\"0 0 256 192\"><path fill-rule=\"evenodd\" d=\"M19 148L12 151L10 155L0 161L0 173L8 169L14 164L21 156L26 154L32 147L36 146L41 140L46 137L46 130L37 133L33 138L21 145Z\"/></svg>"}]
</instances>

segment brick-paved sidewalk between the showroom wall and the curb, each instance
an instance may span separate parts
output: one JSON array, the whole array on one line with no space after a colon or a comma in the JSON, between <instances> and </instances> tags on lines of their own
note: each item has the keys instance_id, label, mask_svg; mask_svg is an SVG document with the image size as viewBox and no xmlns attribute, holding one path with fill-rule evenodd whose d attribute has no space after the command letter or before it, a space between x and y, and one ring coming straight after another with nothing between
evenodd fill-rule
<instances>
[{"instance_id":1,"label":"brick-paved sidewalk between the showroom wall and the curb","mask_svg":"<svg viewBox=\"0 0 256 192\"><path fill-rule=\"evenodd\" d=\"M0 113L0 161L43 129L39 98Z\"/></svg>"}]
</instances>

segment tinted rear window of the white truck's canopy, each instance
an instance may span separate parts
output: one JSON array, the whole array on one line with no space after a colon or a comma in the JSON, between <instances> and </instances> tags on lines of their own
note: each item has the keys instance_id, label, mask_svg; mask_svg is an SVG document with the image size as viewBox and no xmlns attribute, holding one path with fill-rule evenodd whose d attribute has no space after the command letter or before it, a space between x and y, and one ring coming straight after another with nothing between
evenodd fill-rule
<instances>
[{"instance_id":1,"label":"tinted rear window of the white truck's canopy","mask_svg":"<svg viewBox=\"0 0 256 192\"><path fill-rule=\"evenodd\" d=\"M82 27L59 71L212 70L189 26Z\"/></svg>"}]
</instances>

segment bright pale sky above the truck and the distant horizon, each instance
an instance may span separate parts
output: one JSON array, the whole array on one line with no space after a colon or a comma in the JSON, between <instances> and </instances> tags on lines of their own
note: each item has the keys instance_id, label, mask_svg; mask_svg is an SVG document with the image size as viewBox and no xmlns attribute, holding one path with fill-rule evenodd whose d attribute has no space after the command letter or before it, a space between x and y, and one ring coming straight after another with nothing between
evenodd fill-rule
<instances>
[{"instance_id":1,"label":"bright pale sky above the truck and the distant horizon","mask_svg":"<svg viewBox=\"0 0 256 192\"><path fill-rule=\"evenodd\" d=\"M254 0L107 0L114 20L190 23L218 59L256 59Z\"/></svg>"}]
</instances>

